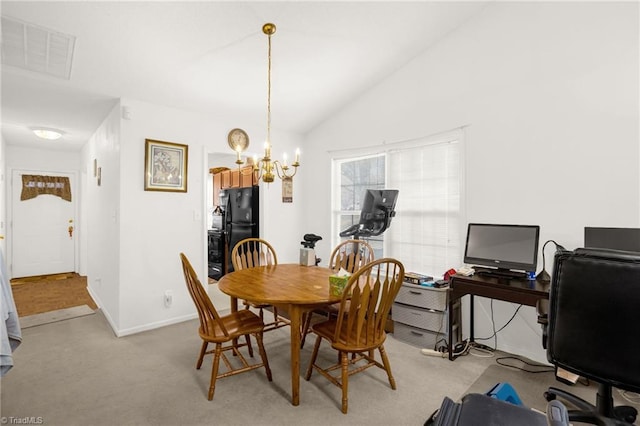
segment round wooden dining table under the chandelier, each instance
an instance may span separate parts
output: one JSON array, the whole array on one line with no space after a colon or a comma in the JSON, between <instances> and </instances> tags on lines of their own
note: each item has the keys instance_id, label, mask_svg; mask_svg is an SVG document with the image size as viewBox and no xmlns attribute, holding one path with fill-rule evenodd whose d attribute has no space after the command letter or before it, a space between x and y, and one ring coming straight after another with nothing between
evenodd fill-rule
<instances>
[{"instance_id":1,"label":"round wooden dining table under the chandelier","mask_svg":"<svg viewBox=\"0 0 640 426\"><path fill-rule=\"evenodd\" d=\"M300 404L300 331L302 315L340 301L329 291L333 271L319 266L278 264L234 271L218 281L218 288L231 296L231 310L238 299L282 307L291 321L291 403Z\"/></svg>"}]
</instances>

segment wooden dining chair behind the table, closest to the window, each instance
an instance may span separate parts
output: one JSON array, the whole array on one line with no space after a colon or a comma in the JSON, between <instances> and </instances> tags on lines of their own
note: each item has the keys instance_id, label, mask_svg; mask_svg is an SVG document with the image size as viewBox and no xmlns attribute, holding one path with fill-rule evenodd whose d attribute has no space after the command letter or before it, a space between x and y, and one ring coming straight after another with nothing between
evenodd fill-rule
<instances>
[{"instance_id":1,"label":"wooden dining chair behind the table, closest to the window","mask_svg":"<svg viewBox=\"0 0 640 426\"><path fill-rule=\"evenodd\" d=\"M341 269L353 274L374 259L373 247L363 240L345 240L338 244L329 256L329 268L335 272ZM300 338L300 347L304 347L307 334L311 330L311 321L313 314L320 314L326 317L336 315L338 313L339 303L326 306L324 308L315 309L305 314L302 324L302 337Z\"/></svg>"}]
</instances>

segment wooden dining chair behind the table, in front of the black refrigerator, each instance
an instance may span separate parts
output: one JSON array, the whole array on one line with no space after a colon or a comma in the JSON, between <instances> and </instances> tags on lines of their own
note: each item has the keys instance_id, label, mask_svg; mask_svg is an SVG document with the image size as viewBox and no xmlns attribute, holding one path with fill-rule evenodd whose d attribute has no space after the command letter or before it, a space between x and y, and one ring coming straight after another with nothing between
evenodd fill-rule
<instances>
[{"instance_id":1,"label":"wooden dining chair behind the table, in front of the black refrigerator","mask_svg":"<svg viewBox=\"0 0 640 426\"><path fill-rule=\"evenodd\" d=\"M246 238L239 241L231 250L231 263L235 271L240 271L256 266L277 265L278 257L273 246L268 241L261 238ZM257 309L262 320L264 320L265 309L273 311L273 321L265 323L264 331L275 330L291 324L287 318L278 314L278 308L273 305L255 303L250 300L244 300L242 303L246 309Z\"/></svg>"}]
</instances>

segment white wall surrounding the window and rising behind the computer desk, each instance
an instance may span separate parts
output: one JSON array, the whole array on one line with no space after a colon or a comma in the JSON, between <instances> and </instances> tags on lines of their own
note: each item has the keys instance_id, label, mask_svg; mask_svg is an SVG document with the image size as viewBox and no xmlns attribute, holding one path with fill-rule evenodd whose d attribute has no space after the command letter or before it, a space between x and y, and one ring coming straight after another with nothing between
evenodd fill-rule
<instances>
[{"instance_id":1,"label":"white wall surrounding the window and rising behind the computer desk","mask_svg":"<svg viewBox=\"0 0 640 426\"><path fill-rule=\"evenodd\" d=\"M305 181L306 216L329 235L328 151L468 125L467 221L539 224L541 243L567 248L587 225L637 227L638 30L637 3L490 4L308 135L305 173L327 179ZM476 336L489 336L489 302L476 306ZM495 302L497 327L516 307ZM546 359L533 308L498 336Z\"/></svg>"}]
</instances>

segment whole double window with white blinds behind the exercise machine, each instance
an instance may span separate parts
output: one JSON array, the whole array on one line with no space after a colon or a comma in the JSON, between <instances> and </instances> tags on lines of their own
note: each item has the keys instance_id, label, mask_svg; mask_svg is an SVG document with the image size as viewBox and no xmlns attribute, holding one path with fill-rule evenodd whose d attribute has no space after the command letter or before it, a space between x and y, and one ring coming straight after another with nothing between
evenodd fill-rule
<instances>
[{"instance_id":1,"label":"whole double window with white blinds behind the exercise machine","mask_svg":"<svg viewBox=\"0 0 640 426\"><path fill-rule=\"evenodd\" d=\"M398 189L389 229L369 240L376 258L399 259L407 271L440 277L462 263L461 132L394 144L384 152L334 160L335 238L358 222L366 189ZM338 204L334 202L334 205Z\"/></svg>"}]
</instances>

